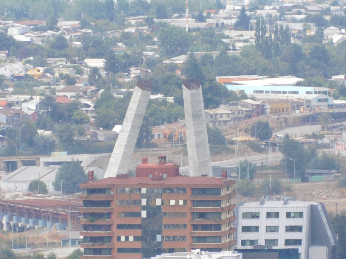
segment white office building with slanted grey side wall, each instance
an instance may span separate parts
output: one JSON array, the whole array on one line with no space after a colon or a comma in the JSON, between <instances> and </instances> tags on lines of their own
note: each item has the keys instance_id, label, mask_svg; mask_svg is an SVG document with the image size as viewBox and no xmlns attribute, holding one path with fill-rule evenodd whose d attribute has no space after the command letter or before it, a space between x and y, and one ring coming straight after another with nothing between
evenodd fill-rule
<instances>
[{"instance_id":1,"label":"white office building with slanted grey side wall","mask_svg":"<svg viewBox=\"0 0 346 259\"><path fill-rule=\"evenodd\" d=\"M243 256L261 253L260 258L337 259L337 237L323 203L262 199L238 205L236 215L234 248ZM265 256L270 253L274 257Z\"/></svg>"}]
</instances>

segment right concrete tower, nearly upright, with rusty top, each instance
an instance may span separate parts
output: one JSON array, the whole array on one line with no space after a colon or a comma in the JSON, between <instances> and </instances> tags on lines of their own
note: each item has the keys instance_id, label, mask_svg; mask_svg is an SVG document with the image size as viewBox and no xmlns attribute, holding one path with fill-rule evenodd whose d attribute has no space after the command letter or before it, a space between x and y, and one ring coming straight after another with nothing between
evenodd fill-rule
<instances>
[{"instance_id":1,"label":"right concrete tower, nearly upright, with rusty top","mask_svg":"<svg viewBox=\"0 0 346 259\"><path fill-rule=\"evenodd\" d=\"M186 141L190 176L212 176L202 87L199 79L183 80Z\"/></svg>"}]
</instances>

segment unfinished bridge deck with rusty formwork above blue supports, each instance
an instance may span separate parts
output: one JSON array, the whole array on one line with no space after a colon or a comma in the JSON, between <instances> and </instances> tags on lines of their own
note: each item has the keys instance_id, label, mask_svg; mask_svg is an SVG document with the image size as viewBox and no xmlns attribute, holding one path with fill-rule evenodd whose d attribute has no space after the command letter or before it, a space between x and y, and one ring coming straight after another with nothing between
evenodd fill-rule
<instances>
[{"instance_id":1,"label":"unfinished bridge deck with rusty formwork above blue supports","mask_svg":"<svg viewBox=\"0 0 346 259\"><path fill-rule=\"evenodd\" d=\"M43 197L43 195L41 195ZM71 231L81 231L80 219L82 213L79 211L83 203L76 199L54 199L45 197L34 199L26 197L25 200L1 200L0 217L8 219L6 222L7 229L22 232L24 228L53 227L56 230L63 230L71 223ZM71 217L69 213L71 210ZM48 222L47 222L47 215ZM4 222L0 221L3 228Z\"/></svg>"}]
</instances>

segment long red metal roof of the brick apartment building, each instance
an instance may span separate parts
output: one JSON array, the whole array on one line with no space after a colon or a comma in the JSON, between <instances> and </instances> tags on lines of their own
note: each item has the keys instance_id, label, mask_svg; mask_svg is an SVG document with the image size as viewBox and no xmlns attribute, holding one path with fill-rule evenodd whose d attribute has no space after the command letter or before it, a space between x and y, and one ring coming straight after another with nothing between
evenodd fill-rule
<instances>
[{"instance_id":1,"label":"long red metal roof of the brick apartment building","mask_svg":"<svg viewBox=\"0 0 346 259\"><path fill-rule=\"evenodd\" d=\"M102 180L85 183L85 185L106 185L106 184L117 184L117 185L127 185L131 186L132 184L223 184L222 179L213 178L209 176L178 176L178 177L169 177L161 181L154 181L150 178L143 177L130 177L130 178L116 178L108 177Z\"/></svg>"}]
</instances>

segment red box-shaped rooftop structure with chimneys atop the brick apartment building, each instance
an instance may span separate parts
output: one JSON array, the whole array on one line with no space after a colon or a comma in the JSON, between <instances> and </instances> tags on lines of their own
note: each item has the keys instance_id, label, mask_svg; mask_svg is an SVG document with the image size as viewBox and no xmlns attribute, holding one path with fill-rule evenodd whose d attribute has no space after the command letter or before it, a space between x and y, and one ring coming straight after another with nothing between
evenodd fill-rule
<instances>
[{"instance_id":1,"label":"red box-shaped rooftop structure with chimneys atop the brick apartment building","mask_svg":"<svg viewBox=\"0 0 346 259\"><path fill-rule=\"evenodd\" d=\"M179 165L169 163L166 164L166 156L158 156L156 164L148 164L148 158L142 157L142 164L136 167L136 177L149 177L149 175L157 176L166 174L167 177L179 176Z\"/></svg>"}]
</instances>

